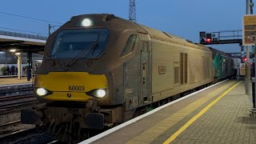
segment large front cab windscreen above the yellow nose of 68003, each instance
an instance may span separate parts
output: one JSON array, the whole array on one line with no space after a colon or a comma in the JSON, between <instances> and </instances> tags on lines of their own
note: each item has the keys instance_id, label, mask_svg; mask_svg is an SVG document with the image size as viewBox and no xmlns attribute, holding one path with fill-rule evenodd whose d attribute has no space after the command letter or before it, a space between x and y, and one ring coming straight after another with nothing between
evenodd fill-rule
<instances>
[{"instance_id":1,"label":"large front cab windscreen above the yellow nose of 68003","mask_svg":"<svg viewBox=\"0 0 256 144\"><path fill-rule=\"evenodd\" d=\"M52 58L99 58L106 46L108 30L70 29L60 31L52 48Z\"/></svg>"}]
</instances>

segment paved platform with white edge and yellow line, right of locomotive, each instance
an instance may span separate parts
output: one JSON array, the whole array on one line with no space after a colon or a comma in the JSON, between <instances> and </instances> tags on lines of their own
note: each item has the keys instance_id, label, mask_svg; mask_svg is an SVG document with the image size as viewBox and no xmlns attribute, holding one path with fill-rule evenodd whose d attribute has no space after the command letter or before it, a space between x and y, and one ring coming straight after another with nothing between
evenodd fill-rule
<instances>
[{"instance_id":1,"label":"paved platform with white edge and yellow line, right of locomotive","mask_svg":"<svg viewBox=\"0 0 256 144\"><path fill-rule=\"evenodd\" d=\"M219 82L81 143L256 143L245 83Z\"/></svg>"}]
</instances>

